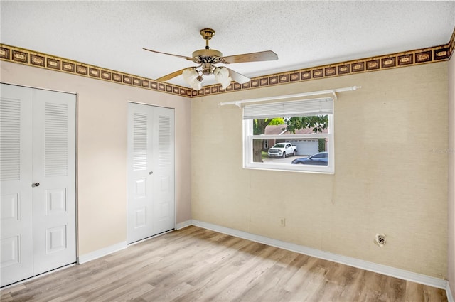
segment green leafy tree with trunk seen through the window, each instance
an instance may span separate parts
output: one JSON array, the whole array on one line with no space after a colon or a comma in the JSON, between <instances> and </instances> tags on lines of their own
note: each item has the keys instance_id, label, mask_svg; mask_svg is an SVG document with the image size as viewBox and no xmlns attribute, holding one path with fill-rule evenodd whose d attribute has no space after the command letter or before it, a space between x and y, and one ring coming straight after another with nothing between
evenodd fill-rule
<instances>
[{"instance_id":1,"label":"green leafy tree with trunk seen through the window","mask_svg":"<svg viewBox=\"0 0 455 302\"><path fill-rule=\"evenodd\" d=\"M291 133L304 128L313 128L314 133L322 132L328 128L327 115L315 115L311 117L278 117L274 119L254 119L253 134L260 135L265 133L268 125L283 125L283 129ZM286 126L286 127L284 127ZM253 161L262 163L262 141L263 139L253 139Z\"/></svg>"}]
</instances>

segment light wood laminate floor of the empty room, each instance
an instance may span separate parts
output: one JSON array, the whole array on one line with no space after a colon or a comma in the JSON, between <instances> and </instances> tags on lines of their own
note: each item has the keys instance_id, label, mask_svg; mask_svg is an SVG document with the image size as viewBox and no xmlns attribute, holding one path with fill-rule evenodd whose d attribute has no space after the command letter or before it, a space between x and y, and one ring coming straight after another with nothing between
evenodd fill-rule
<instances>
[{"instance_id":1,"label":"light wood laminate floor of the empty room","mask_svg":"<svg viewBox=\"0 0 455 302\"><path fill-rule=\"evenodd\" d=\"M447 301L439 288L186 227L1 291L1 301Z\"/></svg>"}]
</instances>

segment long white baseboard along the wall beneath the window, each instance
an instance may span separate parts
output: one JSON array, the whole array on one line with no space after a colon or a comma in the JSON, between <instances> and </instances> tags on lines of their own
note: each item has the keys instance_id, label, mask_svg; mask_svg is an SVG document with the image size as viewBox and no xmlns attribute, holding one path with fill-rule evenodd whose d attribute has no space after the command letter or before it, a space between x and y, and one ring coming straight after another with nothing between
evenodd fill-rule
<instances>
[{"instance_id":1,"label":"long white baseboard along the wall beneath the window","mask_svg":"<svg viewBox=\"0 0 455 302\"><path fill-rule=\"evenodd\" d=\"M192 220L192 225L196 227L203 227L204 229L213 230L223 234L229 234L235 237L240 237L243 239L248 239L254 242L259 242L262 244L267 244L272 247L279 247L281 249L287 249L291 252L297 252L300 254L306 254L312 257L325 259L328 261L338 262L340 264L346 264L348 266L357 267L358 269L365 269L367 271L373 271L375 273L392 276L395 278L416 282L418 284L424 284L428 286L433 286L436 288L442 288L446 291L449 288L449 282L444 279L434 278L432 276L422 275L413 273L412 271L405 271L404 269L396 269L392 266L385 266L382 264L376 264L369 261L364 261L360 259L355 259L352 257L346 257L340 254L333 254L330 252L324 252L319 249L312 249L311 247L304 247L298 244L292 244L289 242L283 242L277 239L271 239L264 236L251 234L248 232L242 232L239 230L230 229L228 227L222 227L220 225L213 225L208 222L203 222L199 220ZM449 298L449 291L447 293L447 298ZM450 300L449 300L450 301ZM452 298L453 301L453 298Z\"/></svg>"}]
</instances>

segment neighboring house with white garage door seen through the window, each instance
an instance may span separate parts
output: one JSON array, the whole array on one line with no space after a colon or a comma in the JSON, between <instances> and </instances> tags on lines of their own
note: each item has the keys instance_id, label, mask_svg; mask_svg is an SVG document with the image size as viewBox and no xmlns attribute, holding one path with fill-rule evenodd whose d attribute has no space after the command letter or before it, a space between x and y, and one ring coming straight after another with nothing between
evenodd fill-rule
<instances>
[{"instance_id":1,"label":"neighboring house with white garage door seen through the window","mask_svg":"<svg viewBox=\"0 0 455 302\"><path fill-rule=\"evenodd\" d=\"M265 127L265 133L267 135L283 135L292 134L286 131L286 125L269 125ZM314 133L313 128L304 128L297 130L295 134L312 134ZM327 129L323 129L322 133L328 133ZM297 146L297 155L312 155L321 151L327 151L327 141L325 140L323 148L319 147L319 139L264 139L262 142L262 150L267 151L276 143L289 141L293 145Z\"/></svg>"}]
</instances>

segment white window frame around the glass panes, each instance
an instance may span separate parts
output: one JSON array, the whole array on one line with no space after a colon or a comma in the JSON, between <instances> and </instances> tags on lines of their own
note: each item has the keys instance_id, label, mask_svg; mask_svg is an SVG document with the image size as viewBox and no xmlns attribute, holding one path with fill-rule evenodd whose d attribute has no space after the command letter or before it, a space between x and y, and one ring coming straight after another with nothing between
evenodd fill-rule
<instances>
[{"instance_id":1,"label":"white window frame around the glass panes","mask_svg":"<svg viewBox=\"0 0 455 302\"><path fill-rule=\"evenodd\" d=\"M278 116L279 114L277 114ZM318 114L319 115L319 114ZM335 173L335 140L333 127L333 113L328 115L328 133L313 134L283 134L283 135L253 135L253 119L243 120L243 168L273 170L273 171L293 171L306 173ZM257 163L253 161L253 139L328 139L328 165L297 165L291 163ZM303 157L303 156L300 156ZM296 156L295 158L299 158Z\"/></svg>"}]
</instances>

